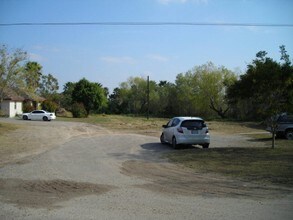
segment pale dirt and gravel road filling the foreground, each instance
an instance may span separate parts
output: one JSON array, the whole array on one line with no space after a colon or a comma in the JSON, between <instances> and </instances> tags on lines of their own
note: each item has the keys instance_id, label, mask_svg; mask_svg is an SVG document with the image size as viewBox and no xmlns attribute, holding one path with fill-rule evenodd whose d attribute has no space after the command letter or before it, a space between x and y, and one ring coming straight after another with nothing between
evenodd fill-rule
<instances>
[{"instance_id":1,"label":"pale dirt and gravel road filling the foreground","mask_svg":"<svg viewBox=\"0 0 293 220\"><path fill-rule=\"evenodd\" d=\"M194 173L157 137L0 120L25 126L6 138L30 145L2 163L0 219L293 219L290 189ZM246 139L215 134L211 147L235 141Z\"/></svg>"}]
</instances>

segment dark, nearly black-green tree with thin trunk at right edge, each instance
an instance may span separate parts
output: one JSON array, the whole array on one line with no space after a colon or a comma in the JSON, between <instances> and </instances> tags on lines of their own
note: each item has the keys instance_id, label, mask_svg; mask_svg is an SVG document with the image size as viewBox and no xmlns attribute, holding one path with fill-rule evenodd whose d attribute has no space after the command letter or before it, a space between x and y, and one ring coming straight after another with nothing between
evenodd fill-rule
<instances>
[{"instance_id":1,"label":"dark, nearly black-green tree with thin trunk at right edge","mask_svg":"<svg viewBox=\"0 0 293 220\"><path fill-rule=\"evenodd\" d=\"M248 65L246 74L228 89L227 97L234 108L246 103L248 106L245 119L265 120L268 118L272 129L272 148L275 145L277 129L276 115L290 112L293 105L293 66L285 46L280 47L279 63L267 57L265 51L256 54L256 58Z\"/></svg>"}]
</instances>

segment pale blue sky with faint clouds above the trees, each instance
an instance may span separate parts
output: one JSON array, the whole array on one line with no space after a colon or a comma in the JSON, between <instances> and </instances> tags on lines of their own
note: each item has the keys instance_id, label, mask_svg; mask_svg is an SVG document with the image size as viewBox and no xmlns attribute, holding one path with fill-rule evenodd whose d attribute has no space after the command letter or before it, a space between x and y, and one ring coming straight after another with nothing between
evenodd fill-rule
<instances>
[{"instance_id":1,"label":"pale blue sky with faint clouds above the trees","mask_svg":"<svg viewBox=\"0 0 293 220\"><path fill-rule=\"evenodd\" d=\"M0 24L191 22L293 24L292 0L0 0ZM0 25L0 44L66 82L83 77L112 91L129 77L174 82L209 61L245 73L258 51L293 56L293 26Z\"/></svg>"}]
</instances>

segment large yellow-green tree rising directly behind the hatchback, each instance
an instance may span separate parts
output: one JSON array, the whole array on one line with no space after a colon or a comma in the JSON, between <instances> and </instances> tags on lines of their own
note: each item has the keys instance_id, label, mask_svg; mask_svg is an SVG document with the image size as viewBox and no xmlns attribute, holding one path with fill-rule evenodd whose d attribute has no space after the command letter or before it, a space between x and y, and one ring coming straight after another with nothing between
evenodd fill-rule
<instances>
[{"instance_id":1,"label":"large yellow-green tree rising directly behind the hatchback","mask_svg":"<svg viewBox=\"0 0 293 220\"><path fill-rule=\"evenodd\" d=\"M225 118L229 110L226 90L235 80L232 71L211 62L178 74L175 83L179 114L211 117L217 113Z\"/></svg>"}]
</instances>

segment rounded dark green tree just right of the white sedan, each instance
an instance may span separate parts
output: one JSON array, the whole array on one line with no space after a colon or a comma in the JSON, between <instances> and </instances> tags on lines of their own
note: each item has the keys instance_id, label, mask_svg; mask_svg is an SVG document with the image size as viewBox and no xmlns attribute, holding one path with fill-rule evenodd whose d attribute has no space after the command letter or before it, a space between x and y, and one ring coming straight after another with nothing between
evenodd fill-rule
<instances>
[{"instance_id":1,"label":"rounded dark green tree just right of the white sedan","mask_svg":"<svg viewBox=\"0 0 293 220\"><path fill-rule=\"evenodd\" d=\"M89 115L90 111L99 111L107 105L105 90L99 83L92 83L85 78L76 83L72 91L72 101L83 103Z\"/></svg>"}]
</instances>

